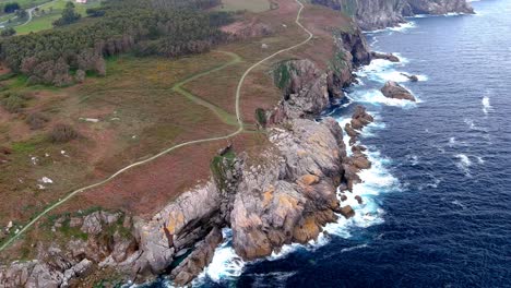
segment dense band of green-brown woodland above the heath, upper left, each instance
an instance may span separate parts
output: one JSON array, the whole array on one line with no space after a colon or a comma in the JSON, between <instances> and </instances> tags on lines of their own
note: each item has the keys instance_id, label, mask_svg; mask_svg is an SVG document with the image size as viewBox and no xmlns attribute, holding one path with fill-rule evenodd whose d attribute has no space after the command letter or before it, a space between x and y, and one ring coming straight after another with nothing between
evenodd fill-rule
<instances>
[{"instance_id":1,"label":"dense band of green-brown woodland above the heath, upper left","mask_svg":"<svg viewBox=\"0 0 511 288\"><path fill-rule=\"evenodd\" d=\"M224 41L218 28L233 21L206 12L219 0L107 0L81 21L48 32L4 37L0 59L29 84L66 86L87 73L105 75L105 57L123 52L179 57Z\"/></svg>"}]
</instances>

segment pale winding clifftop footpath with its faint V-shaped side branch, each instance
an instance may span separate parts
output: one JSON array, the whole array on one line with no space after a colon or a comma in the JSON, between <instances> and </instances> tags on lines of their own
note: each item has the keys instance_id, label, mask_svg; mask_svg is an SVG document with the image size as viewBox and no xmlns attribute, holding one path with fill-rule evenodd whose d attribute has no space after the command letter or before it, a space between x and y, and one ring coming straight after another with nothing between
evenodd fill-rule
<instances>
[{"instance_id":1,"label":"pale winding clifftop footpath with its faint V-shaped side branch","mask_svg":"<svg viewBox=\"0 0 511 288\"><path fill-rule=\"evenodd\" d=\"M43 216L45 216L46 214L48 214L49 212L51 212L52 209L57 208L58 206L62 205L63 203L68 202L70 199L72 199L73 196L75 196L76 194L80 194L86 190L91 190L93 188L97 188L97 187L100 187L109 181L111 181L112 179L117 178L119 175L126 172L127 170L130 170L134 167L138 167L138 166L142 166L144 164L147 164L154 159L157 159L162 156L164 156L165 154L168 154L177 148L180 148L180 147L185 147L185 146L190 146L190 145L194 145L194 144L200 144L200 143L207 143L207 142L213 142L213 141L219 141L219 140L227 140L227 139L230 139L233 136L236 136L238 134L240 134L241 132L243 132L243 122L241 120L241 112L240 112L240 96L241 96L241 89L242 89L242 86L243 86L243 83L245 83L245 80L247 79L247 76L250 74L251 71L253 71L255 68L258 68L259 65L261 65L262 63L266 62L268 60L274 58L275 56L277 55L281 55L281 53L284 53L284 52L287 52L289 50L293 50L295 48L298 48L307 43L310 41L310 39L312 39L313 37L313 34L307 29L301 23L300 23L300 17L301 17L301 12L302 10L305 9L305 5L299 1L299 0L295 0L300 9L298 10L298 14L296 15L296 20L295 20L295 23L302 29L305 31L309 36L307 37L307 39L302 40L301 43L297 44L297 45L294 45L292 47L288 47L288 48L285 48L285 49L282 49L280 51L276 51L274 53L272 53L271 56L262 59L261 61L254 63L253 65L251 65L250 68L248 68L245 73L242 74L241 79L239 80L238 82L238 86L237 86L237 89L236 89L236 120L237 120L237 125L238 125L238 130L236 130L235 132L228 134L228 135L225 135L225 136L218 136L218 137L210 137L210 139L202 139L202 140L194 140L194 141L189 141L189 142L185 142L185 143L181 143L181 144L178 144L178 145L175 145L175 146L171 146L154 156L152 156L151 158L147 158L145 160L142 160L142 161L138 161L138 163L133 163L122 169L120 169L119 171L117 171L116 173L111 175L110 177L104 179L103 181L99 181L97 183L94 183L94 184L91 184L91 185L87 185L87 187L84 187L84 188L81 188L81 189L78 189L78 190L74 190L73 192L71 192L70 194L68 194L66 197L59 200L57 203L48 206L46 209L44 209L40 214L38 214L37 216L34 217L34 219L32 219L29 223L27 223L16 235L14 235L13 237L11 237L8 241L5 241L1 247L0 247L0 252L5 250L5 248L8 248L14 240L16 240L17 238L20 238L20 236L22 236L23 233L25 233L32 226L34 226L34 224L36 224ZM218 71L223 68L225 68L226 65L222 65L222 67L218 67L216 69L213 69L213 70L210 70L209 72L202 72L200 74L197 74L194 76L191 76L180 83L177 83L176 86L173 88L179 93L181 93L181 91L186 92L185 89L181 88L181 86L194 79L198 79L202 75L205 75L207 73L211 73L211 72L214 72L214 71ZM176 88L177 87L177 88ZM186 92L187 94L185 96L189 97L190 95L193 96L191 93L188 93ZM189 94L189 95L188 95ZM199 97L197 96L193 96L191 98L192 100L200 100L200 105L203 105L205 106L206 108L210 108L211 107L209 105L211 105L210 103L203 100L203 99L200 99ZM215 111L215 110L214 110ZM216 111L215 111L216 113Z\"/></svg>"}]
</instances>

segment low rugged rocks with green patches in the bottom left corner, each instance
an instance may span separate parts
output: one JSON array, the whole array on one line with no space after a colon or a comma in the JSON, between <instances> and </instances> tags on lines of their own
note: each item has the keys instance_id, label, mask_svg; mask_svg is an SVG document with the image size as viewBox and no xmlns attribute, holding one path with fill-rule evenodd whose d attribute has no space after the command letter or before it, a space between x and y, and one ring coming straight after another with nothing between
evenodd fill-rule
<instances>
[{"instance_id":1,"label":"low rugged rocks with green patches in the bottom left corner","mask_svg":"<svg viewBox=\"0 0 511 288\"><path fill-rule=\"evenodd\" d=\"M38 247L37 260L0 266L0 287L69 287L95 267L115 266L130 271L138 257L138 243L131 235L131 218L121 213L94 212L55 221L52 231L72 233L66 245Z\"/></svg>"}]
</instances>

